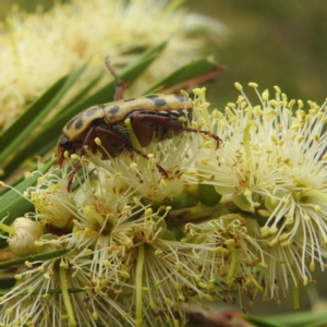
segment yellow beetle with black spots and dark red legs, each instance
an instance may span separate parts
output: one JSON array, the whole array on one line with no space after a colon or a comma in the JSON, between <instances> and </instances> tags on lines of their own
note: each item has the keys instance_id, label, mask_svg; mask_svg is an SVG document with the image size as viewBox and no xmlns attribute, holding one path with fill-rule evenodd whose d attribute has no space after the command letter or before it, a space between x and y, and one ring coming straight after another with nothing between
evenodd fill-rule
<instances>
[{"instance_id":1,"label":"yellow beetle with black spots and dark red legs","mask_svg":"<svg viewBox=\"0 0 327 327\"><path fill-rule=\"evenodd\" d=\"M194 132L209 135L217 142L221 140L209 131L189 126L192 120L193 100L177 94L152 94L137 98L119 99L122 97L124 84L111 68L108 58L106 64L116 78L116 101L93 106L72 118L62 130L58 141L58 159L61 167L68 155L85 155L85 147L93 154L100 153L101 159L118 157L123 150L134 152L148 159L147 155L133 146L129 129L124 123L131 120L131 125L142 147L153 140L158 142L181 132ZM102 147L97 147L95 138L101 141ZM81 168L81 159L74 167L68 181L70 192L73 178ZM167 171L156 164L162 175Z\"/></svg>"}]
</instances>

